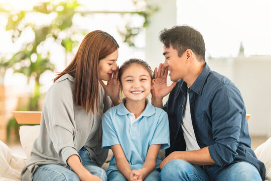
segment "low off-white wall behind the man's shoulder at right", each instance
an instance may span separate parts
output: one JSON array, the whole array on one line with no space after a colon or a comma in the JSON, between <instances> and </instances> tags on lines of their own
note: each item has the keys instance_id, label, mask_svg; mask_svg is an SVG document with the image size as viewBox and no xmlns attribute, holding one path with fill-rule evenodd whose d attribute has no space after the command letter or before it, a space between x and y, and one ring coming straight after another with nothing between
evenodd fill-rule
<instances>
[{"instance_id":1,"label":"low off-white wall behind the man's shoulder at right","mask_svg":"<svg viewBox=\"0 0 271 181\"><path fill-rule=\"evenodd\" d=\"M251 56L208 61L212 70L229 77L239 88L253 136L271 136L271 56Z\"/></svg>"}]
</instances>

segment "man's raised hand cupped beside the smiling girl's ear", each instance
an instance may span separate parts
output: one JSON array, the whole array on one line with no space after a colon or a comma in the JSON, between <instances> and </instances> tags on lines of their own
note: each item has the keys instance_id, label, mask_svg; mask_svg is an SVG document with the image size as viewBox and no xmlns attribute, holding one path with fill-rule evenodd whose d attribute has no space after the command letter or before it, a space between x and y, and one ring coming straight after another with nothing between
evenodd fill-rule
<instances>
[{"instance_id":1,"label":"man's raised hand cupped beside the smiling girl's ear","mask_svg":"<svg viewBox=\"0 0 271 181\"><path fill-rule=\"evenodd\" d=\"M168 68L165 68L162 63L160 63L159 68L157 67L154 71L154 78L156 79L156 84L153 89L151 89L153 98L161 98L163 99L167 96L175 87L177 81L172 82L170 86L167 85L167 76L168 76Z\"/></svg>"}]
</instances>

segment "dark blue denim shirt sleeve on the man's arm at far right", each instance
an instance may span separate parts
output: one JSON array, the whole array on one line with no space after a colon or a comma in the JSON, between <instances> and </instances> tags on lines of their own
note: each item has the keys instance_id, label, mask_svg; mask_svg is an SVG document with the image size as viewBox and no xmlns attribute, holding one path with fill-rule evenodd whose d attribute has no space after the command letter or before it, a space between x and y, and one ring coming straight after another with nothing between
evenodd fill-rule
<instances>
[{"instance_id":1,"label":"dark blue denim shirt sleeve on the man's arm at far right","mask_svg":"<svg viewBox=\"0 0 271 181\"><path fill-rule=\"evenodd\" d=\"M230 164L237 155L242 114L245 106L238 89L221 85L211 103L214 144L209 146L211 158L219 166Z\"/></svg>"}]
</instances>

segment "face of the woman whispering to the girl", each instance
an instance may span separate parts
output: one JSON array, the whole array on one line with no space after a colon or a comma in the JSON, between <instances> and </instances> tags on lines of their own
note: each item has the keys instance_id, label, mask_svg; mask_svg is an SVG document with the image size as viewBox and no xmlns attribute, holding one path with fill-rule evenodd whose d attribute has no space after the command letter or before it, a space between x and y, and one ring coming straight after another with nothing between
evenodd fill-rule
<instances>
[{"instance_id":1,"label":"face of the woman whispering to the girl","mask_svg":"<svg viewBox=\"0 0 271 181\"><path fill-rule=\"evenodd\" d=\"M108 81L116 70L116 60L118 57L118 49L113 53L107 55L105 58L101 59L98 64L99 79Z\"/></svg>"}]
</instances>

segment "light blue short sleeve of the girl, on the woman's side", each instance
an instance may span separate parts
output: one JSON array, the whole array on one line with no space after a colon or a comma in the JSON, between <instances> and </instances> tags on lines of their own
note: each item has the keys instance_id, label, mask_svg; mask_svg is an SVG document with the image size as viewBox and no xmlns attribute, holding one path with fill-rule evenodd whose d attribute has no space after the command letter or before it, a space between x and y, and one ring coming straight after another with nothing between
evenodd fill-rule
<instances>
[{"instance_id":1,"label":"light blue short sleeve of the girl, on the woman's side","mask_svg":"<svg viewBox=\"0 0 271 181\"><path fill-rule=\"evenodd\" d=\"M102 149L110 149L110 146L120 144L112 118L109 112L102 117Z\"/></svg>"}]
</instances>

